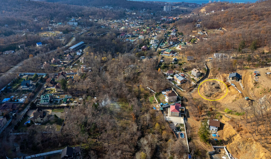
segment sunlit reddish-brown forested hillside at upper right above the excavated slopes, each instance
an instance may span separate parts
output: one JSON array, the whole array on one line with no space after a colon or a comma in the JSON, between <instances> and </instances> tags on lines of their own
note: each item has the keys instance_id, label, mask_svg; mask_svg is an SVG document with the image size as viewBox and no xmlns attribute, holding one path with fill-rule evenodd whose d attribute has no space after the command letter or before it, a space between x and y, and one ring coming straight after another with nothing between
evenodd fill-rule
<instances>
[{"instance_id":1,"label":"sunlit reddish-brown forested hillside at upper right above the excavated slopes","mask_svg":"<svg viewBox=\"0 0 271 159\"><path fill-rule=\"evenodd\" d=\"M239 58L241 62L252 62L253 65L265 65L270 62L270 54L255 53L263 52L264 47L267 52L271 48L271 1L257 2L254 4L234 5L226 3L208 4L202 8L195 9L194 15L189 18L183 17L175 23L182 27L182 32L186 35L192 31L206 31L207 39L198 42L195 47L189 48L189 53L195 56L207 55L211 52L238 51L240 53L249 52L250 56ZM222 8L224 11L221 11ZM214 11L212 13L212 11ZM202 19L201 28L196 28L198 19ZM221 31L215 29L222 28ZM232 65L227 67L232 70Z\"/></svg>"}]
</instances>

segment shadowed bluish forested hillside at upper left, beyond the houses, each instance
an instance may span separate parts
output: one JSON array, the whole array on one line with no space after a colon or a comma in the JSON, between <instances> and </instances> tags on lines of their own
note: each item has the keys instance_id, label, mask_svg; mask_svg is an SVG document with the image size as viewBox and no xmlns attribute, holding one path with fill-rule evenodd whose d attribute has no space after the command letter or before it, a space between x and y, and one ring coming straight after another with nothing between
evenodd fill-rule
<instances>
[{"instance_id":1,"label":"shadowed bluish forested hillside at upper left, beyond the houses","mask_svg":"<svg viewBox=\"0 0 271 159\"><path fill-rule=\"evenodd\" d=\"M54 18L57 18L58 21L64 21L66 17L72 16L104 19L124 16L123 12L116 10L25 0L2 0L0 15L0 26L13 25L14 22L17 22L19 27L22 23L36 25L33 22L34 18L48 22Z\"/></svg>"}]
</instances>

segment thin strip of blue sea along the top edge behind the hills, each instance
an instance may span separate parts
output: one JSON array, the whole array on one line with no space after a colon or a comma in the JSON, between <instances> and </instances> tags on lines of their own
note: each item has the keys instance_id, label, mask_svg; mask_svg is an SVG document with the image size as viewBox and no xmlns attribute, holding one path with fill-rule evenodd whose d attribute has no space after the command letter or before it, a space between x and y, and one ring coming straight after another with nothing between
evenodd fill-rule
<instances>
[{"instance_id":1,"label":"thin strip of blue sea along the top edge behind the hills","mask_svg":"<svg viewBox=\"0 0 271 159\"><path fill-rule=\"evenodd\" d=\"M202 4L205 3L207 4L209 2L209 0L130 0L130 1L151 1L151 2L187 2L187 3L196 3L196 4ZM216 0L217 2L218 0ZM235 3L235 2L240 2L240 3L254 3L256 2L256 0L234 0L234 1L226 1L226 0L220 0L221 2L230 2L230 3ZM212 0L213 2L213 0Z\"/></svg>"}]
</instances>

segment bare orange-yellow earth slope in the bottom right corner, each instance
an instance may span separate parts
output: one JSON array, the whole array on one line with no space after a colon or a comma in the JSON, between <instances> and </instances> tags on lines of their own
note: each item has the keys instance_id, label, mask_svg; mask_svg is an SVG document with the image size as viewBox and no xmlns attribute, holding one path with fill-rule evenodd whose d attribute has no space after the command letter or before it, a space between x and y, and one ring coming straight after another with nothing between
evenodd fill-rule
<instances>
[{"instance_id":1,"label":"bare orange-yellow earth slope in the bottom right corner","mask_svg":"<svg viewBox=\"0 0 271 159\"><path fill-rule=\"evenodd\" d=\"M271 158L270 152L252 138L242 137L226 122L220 136L227 143L227 150L236 158Z\"/></svg>"}]
</instances>

